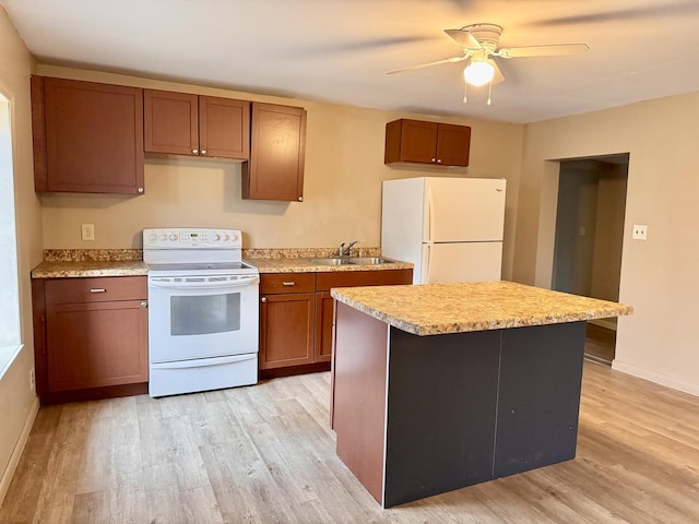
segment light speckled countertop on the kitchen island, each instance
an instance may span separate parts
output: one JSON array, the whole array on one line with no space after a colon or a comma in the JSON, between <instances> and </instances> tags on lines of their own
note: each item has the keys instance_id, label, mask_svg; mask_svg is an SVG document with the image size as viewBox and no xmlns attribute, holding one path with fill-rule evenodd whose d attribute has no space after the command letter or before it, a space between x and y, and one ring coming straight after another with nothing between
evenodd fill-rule
<instances>
[{"instance_id":1,"label":"light speckled countertop on the kitchen island","mask_svg":"<svg viewBox=\"0 0 699 524\"><path fill-rule=\"evenodd\" d=\"M631 314L633 308L513 282L345 287L332 297L415 335L500 330Z\"/></svg>"}]
</instances>

